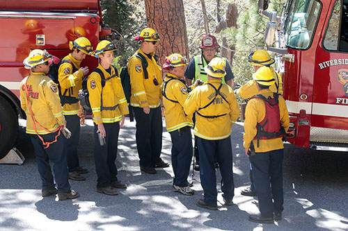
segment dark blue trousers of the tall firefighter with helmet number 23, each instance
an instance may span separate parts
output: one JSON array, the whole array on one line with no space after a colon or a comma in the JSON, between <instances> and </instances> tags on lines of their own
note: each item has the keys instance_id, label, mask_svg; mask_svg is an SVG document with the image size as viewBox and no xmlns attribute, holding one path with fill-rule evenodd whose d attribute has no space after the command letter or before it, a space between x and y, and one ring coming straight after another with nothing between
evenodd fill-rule
<instances>
[{"instance_id":1,"label":"dark blue trousers of the tall firefighter with helmet number 23","mask_svg":"<svg viewBox=\"0 0 348 231\"><path fill-rule=\"evenodd\" d=\"M136 120L136 148L141 166L155 166L161 160L162 115L161 107L151 108L145 114L143 108L134 107Z\"/></svg>"}]
</instances>

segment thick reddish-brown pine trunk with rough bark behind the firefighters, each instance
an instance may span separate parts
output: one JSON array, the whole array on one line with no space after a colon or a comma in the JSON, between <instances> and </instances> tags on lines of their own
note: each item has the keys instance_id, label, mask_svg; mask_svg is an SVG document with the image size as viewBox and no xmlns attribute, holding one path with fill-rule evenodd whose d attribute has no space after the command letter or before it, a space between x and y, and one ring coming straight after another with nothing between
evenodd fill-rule
<instances>
[{"instance_id":1,"label":"thick reddish-brown pine trunk with rough bark behind the firefighters","mask_svg":"<svg viewBox=\"0 0 348 231\"><path fill-rule=\"evenodd\" d=\"M164 63L166 56L180 53L189 58L187 31L182 0L145 0L148 27L159 33L157 55Z\"/></svg>"}]
</instances>

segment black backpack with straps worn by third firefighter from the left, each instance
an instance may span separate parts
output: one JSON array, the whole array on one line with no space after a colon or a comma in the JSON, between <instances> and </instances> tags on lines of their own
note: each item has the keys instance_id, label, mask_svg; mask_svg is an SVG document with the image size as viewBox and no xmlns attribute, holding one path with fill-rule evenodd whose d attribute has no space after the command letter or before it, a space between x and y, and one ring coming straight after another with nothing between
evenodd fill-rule
<instances>
[{"instance_id":1,"label":"black backpack with straps worn by third firefighter from the left","mask_svg":"<svg viewBox=\"0 0 348 231\"><path fill-rule=\"evenodd\" d=\"M102 78L102 93L101 96L103 94L103 88L105 86L105 82L107 80L110 80L111 78L117 77L118 76L118 71L116 69L116 67L113 67L111 65L111 67L115 70L115 74L113 76L110 76L109 78L105 78L103 71L99 68L95 68L92 72L97 72L97 74L100 75L100 78ZM91 73L92 74L92 73ZM88 81L88 77L84 78L84 80L82 81L82 89L79 92L79 101L80 101L80 105L82 106L82 108L84 108L84 110L86 110L87 112L92 112L92 108L90 108L90 101L89 101L89 94L88 94L88 88L87 88L87 81ZM103 99L102 97L100 97L101 100L101 104L100 104L100 110L114 110L115 108L106 108L103 107Z\"/></svg>"}]
</instances>

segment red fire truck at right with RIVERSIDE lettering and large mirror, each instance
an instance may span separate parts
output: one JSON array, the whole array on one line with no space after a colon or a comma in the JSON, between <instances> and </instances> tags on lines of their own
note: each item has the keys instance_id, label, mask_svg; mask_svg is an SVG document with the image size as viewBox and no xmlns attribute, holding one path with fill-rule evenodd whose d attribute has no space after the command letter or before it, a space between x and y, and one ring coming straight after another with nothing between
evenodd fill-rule
<instances>
[{"instance_id":1,"label":"red fire truck at right with RIVERSIDE lettering and large mirror","mask_svg":"<svg viewBox=\"0 0 348 231\"><path fill-rule=\"evenodd\" d=\"M288 0L280 17L264 11L267 1L264 42L283 71L287 141L348 151L348 0Z\"/></svg>"}]
</instances>

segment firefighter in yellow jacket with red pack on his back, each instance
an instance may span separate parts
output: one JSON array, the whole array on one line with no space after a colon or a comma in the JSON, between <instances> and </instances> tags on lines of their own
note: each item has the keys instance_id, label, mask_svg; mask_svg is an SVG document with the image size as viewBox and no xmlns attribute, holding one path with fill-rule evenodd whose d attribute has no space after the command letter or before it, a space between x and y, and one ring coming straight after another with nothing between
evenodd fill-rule
<instances>
[{"instance_id":1,"label":"firefighter in yellow jacket with red pack on his back","mask_svg":"<svg viewBox=\"0 0 348 231\"><path fill-rule=\"evenodd\" d=\"M261 67L253 74L253 79L259 92L246 105L244 148L253 166L260 214L249 216L249 221L273 223L282 219L282 137L290 121L283 97L269 89L275 81L273 71L269 67Z\"/></svg>"}]
</instances>

